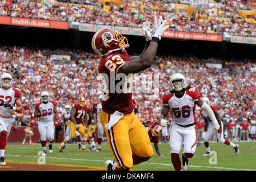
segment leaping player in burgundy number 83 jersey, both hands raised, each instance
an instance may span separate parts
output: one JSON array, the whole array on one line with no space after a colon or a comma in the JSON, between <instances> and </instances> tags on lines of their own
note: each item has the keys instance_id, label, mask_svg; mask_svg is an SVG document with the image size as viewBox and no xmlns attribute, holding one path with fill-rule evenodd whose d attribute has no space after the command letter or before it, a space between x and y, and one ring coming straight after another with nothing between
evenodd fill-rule
<instances>
[{"instance_id":1,"label":"leaping player in burgundy number 83 jersey, both hands raised","mask_svg":"<svg viewBox=\"0 0 256 182\"><path fill-rule=\"evenodd\" d=\"M142 24L147 41L140 56L129 57L125 50L129 47L126 37L110 28L97 31L91 41L94 51L101 56L98 66L103 91L100 120L105 127L111 155L117 162L117 171L129 170L154 155L146 128L133 113L134 104L127 75L141 72L154 64L158 41L168 27L165 23L161 16L155 18L153 30L150 30L149 22ZM121 77L125 82L120 86L118 79ZM107 160L106 167L111 170L112 165L113 161Z\"/></svg>"}]
</instances>

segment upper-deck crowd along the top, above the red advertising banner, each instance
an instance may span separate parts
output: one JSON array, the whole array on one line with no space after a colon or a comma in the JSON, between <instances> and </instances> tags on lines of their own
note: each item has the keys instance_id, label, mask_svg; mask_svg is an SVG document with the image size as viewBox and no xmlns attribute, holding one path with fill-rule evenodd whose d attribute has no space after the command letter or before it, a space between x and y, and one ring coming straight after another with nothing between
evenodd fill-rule
<instances>
[{"instance_id":1,"label":"upper-deck crowd along the top, above the red advertising banner","mask_svg":"<svg viewBox=\"0 0 256 182\"><path fill-rule=\"evenodd\" d=\"M43 2L43 3L42 3ZM72 1L73 2L73 1ZM145 20L153 22L154 16L162 15L170 25L169 30L256 36L254 20L246 21L239 16L239 9L255 9L255 3L244 1L122 1L120 6L110 4L103 8L103 1L1 1L0 15L37 18L111 26L139 27ZM175 4L194 7L198 14L174 11Z\"/></svg>"}]
</instances>

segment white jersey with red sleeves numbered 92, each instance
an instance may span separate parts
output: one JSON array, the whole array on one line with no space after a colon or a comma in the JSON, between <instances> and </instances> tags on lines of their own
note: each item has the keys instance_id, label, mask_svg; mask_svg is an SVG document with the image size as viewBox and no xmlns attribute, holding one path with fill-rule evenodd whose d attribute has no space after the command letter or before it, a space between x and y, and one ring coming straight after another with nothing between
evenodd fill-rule
<instances>
[{"instance_id":1,"label":"white jersey with red sleeves numbered 92","mask_svg":"<svg viewBox=\"0 0 256 182\"><path fill-rule=\"evenodd\" d=\"M54 122L54 106L56 106L55 101L49 101L47 104L39 102L35 104L35 109L39 109L41 113L40 122ZM42 116L43 113L46 113L46 116Z\"/></svg>"}]
</instances>

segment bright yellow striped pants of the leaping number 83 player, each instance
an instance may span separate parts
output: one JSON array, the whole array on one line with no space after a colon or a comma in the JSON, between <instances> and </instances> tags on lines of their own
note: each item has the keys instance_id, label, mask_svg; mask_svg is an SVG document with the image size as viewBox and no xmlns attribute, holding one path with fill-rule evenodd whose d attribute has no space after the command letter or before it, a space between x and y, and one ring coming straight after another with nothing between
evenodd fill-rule
<instances>
[{"instance_id":1,"label":"bright yellow striped pants of the leaping number 83 player","mask_svg":"<svg viewBox=\"0 0 256 182\"><path fill-rule=\"evenodd\" d=\"M110 114L101 111L101 124L109 122ZM145 126L134 113L125 114L110 130L104 127L107 135L107 144L118 168L133 166L133 152L141 157L154 155L149 135Z\"/></svg>"}]
</instances>

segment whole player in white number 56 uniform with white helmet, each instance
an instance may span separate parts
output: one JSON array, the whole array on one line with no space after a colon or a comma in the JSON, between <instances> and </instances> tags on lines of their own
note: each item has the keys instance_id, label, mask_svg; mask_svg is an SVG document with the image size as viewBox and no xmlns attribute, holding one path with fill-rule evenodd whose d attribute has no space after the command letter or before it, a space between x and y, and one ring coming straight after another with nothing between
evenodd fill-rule
<instances>
[{"instance_id":1,"label":"whole player in white number 56 uniform with white helmet","mask_svg":"<svg viewBox=\"0 0 256 182\"><path fill-rule=\"evenodd\" d=\"M161 126L167 125L165 120L169 110L173 115L173 125L170 128L171 162L176 171L182 170L179 152L182 144L182 166L187 169L189 158L192 158L197 147L197 127L195 118L195 104L201 107L213 121L214 130L219 129L219 124L213 110L201 99L197 89L187 86L185 76L175 73L171 76L171 92L163 96L163 109L161 111Z\"/></svg>"}]
</instances>

